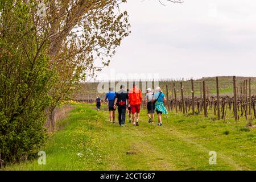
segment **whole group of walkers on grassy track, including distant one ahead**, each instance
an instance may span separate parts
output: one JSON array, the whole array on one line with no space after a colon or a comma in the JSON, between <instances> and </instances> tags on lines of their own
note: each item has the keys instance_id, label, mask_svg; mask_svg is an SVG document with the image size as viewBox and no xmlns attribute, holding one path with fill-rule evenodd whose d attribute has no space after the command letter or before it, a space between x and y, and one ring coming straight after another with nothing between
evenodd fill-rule
<instances>
[{"instance_id":1,"label":"whole group of walkers on grassy track, including distant one ahead","mask_svg":"<svg viewBox=\"0 0 256 182\"><path fill-rule=\"evenodd\" d=\"M132 122L133 126L139 126L139 113L141 111L142 100L141 89L137 88L136 84L133 84L133 89L131 90L125 90L125 86L121 85L118 92L115 92L113 88L109 88L105 101L108 101L110 122L115 123L115 110L117 109L120 126L125 126L126 111L129 116L129 122ZM166 102L166 97L159 86L155 89L154 93L151 88L147 89L144 106L147 106L148 123L154 121L154 113L156 111L158 115L158 126L163 125L162 114L167 114L167 109L164 106ZM101 106L100 96L96 98L96 106L99 111Z\"/></svg>"}]
</instances>

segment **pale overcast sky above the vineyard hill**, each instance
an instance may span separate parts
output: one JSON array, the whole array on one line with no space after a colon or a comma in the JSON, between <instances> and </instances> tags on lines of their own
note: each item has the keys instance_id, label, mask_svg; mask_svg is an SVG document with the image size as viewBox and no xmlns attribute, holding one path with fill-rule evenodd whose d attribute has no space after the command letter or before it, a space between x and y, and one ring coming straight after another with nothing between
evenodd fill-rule
<instances>
[{"instance_id":1,"label":"pale overcast sky above the vineyard hill","mask_svg":"<svg viewBox=\"0 0 256 182\"><path fill-rule=\"evenodd\" d=\"M127 1L131 34L97 79L256 76L256 1Z\"/></svg>"}]
</instances>

